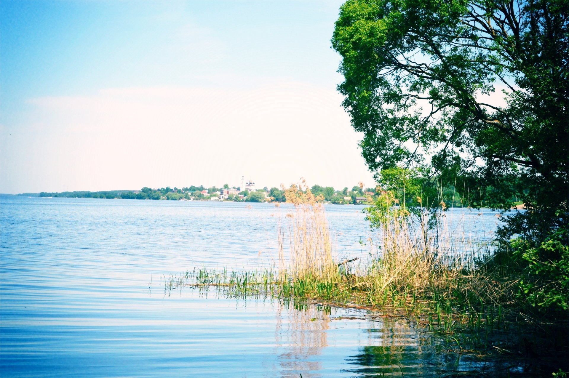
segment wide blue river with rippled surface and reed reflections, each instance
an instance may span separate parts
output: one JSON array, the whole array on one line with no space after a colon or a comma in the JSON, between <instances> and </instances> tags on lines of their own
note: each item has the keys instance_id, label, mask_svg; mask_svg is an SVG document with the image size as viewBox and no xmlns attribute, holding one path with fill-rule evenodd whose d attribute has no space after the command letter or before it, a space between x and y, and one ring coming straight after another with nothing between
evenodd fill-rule
<instances>
[{"instance_id":1,"label":"wide blue river with rippled surface and reed reflections","mask_svg":"<svg viewBox=\"0 0 569 378\"><path fill-rule=\"evenodd\" d=\"M339 257L368 253L361 209L326 206ZM439 376L486 368L447 355L442 340L403 319L160 285L164 274L202 266L270 263L286 206L0 196L0 211L2 377ZM488 241L499 222L489 210L448 214L461 240Z\"/></svg>"}]
</instances>

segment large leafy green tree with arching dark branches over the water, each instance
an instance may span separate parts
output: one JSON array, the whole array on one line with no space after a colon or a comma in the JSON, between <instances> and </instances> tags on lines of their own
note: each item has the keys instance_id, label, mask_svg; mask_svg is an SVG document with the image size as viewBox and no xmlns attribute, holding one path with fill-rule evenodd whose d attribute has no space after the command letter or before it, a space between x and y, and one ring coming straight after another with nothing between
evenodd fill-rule
<instances>
[{"instance_id":1,"label":"large leafy green tree with arching dark branches over the water","mask_svg":"<svg viewBox=\"0 0 569 378\"><path fill-rule=\"evenodd\" d=\"M503 238L567 223L567 13L545 0L344 3L338 89L376 178L404 165L443 187L460 178L492 207L522 198L530 211ZM484 100L497 85L504 103Z\"/></svg>"}]
</instances>

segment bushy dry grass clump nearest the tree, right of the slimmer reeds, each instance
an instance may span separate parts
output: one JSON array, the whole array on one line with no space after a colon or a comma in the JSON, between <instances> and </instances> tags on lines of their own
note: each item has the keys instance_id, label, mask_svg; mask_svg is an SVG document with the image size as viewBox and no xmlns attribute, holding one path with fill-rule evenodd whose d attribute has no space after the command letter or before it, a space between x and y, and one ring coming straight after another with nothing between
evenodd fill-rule
<instances>
[{"instance_id":1,"label":"bushy dry grass clump nearest the tree, right of the slimmer reeds","mask_svg":"<svg viewBox=\"0 0 569 378\"><path fill-rule=\"evenodd\" d=\"M366 209L380 235L376 257L360 277L373 293L369 297L385 297L386 290L391 295L412 293L442 302L451 312L514 301L516 279L493 268L481 268L480 261L476 264L472 256L457 251L444 213L433 219L426 209L411 212L397 205L393 194L384 192L376 206Z\"/></svg>"}]
</instances>

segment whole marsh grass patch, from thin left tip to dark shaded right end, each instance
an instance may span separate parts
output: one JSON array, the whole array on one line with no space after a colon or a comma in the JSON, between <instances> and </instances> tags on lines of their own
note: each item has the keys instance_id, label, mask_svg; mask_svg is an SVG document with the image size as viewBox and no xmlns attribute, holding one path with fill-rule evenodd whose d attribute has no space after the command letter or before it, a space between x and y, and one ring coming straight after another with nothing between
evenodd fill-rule
<instances>
[{"instance_id":1,"label":"whole marsh grass patch, from thin left tip to dark shaded right end","mask_svg":"<svg viewBox=\"0 0 569 378\"><path fill-rule=\"evenodd\" d=\"M341 263L322 198L303 184L284 193L292 207L283 207L284 215L277 217L278 261L252 270L201 268L164 275L164 288L192 286L220 296L313 300L382 311L443 335L457 354L537 353L537 347L527 345L520 352L520 339L512 336L521 325L546 327L525 312L516 296L519 276L494 263L487 248L481 253L485 246L472 244L476 248L470 253L457 250L457 235L451 235L444 212L429 217L430 210L398 206L393 194L384 193L366 210L377 231L368 239L370 258Z\"/></svg>"}]
</instances>

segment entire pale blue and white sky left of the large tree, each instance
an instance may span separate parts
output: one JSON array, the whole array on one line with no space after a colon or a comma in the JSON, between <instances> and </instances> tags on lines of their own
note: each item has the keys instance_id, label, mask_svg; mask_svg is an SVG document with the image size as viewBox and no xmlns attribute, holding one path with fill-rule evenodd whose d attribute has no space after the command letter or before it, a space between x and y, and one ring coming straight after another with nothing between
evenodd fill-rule
<instances>
[{"instance_id":1,"label":"entire pale blue and white sky left of the large tree","mask_svg":"<svg viewBox=\"0 0 569 378\"><path fill-rule=\"evenodd\" d=\"M373 186L341 2L0 2L0 192Z\"/></svg>"}]
</instances>

